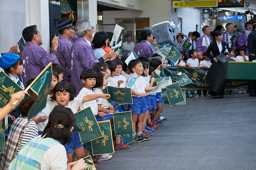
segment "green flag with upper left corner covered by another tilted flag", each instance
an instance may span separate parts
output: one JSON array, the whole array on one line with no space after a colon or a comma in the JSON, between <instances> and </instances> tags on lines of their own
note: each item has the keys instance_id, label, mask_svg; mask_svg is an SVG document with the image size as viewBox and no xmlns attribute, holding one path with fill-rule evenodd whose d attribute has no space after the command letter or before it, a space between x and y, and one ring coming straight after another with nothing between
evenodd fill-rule
<instances>
[{"instance_id":1,"label":"green flag with upper left corner covered by another tilted flag","mask_svg":"<svg viewBox=\"0 0 256 170\"><path fill-rule=\"evenodd\" d=\"M98 123L103 137L91 141L93 155L113 154L114 145L110 120L105 120Z\"/></svg>"}]
</instances>

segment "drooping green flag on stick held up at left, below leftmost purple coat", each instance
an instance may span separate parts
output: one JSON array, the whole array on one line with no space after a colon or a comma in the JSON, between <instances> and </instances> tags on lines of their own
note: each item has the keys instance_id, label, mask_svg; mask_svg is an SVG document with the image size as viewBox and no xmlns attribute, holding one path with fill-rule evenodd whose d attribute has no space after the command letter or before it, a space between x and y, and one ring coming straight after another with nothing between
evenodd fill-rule
<instances>
[{"instance_id":1,"label":"drooping green flag on stick held up at left, below leftmost purple coat","mask_svg":"<svg viewBox=\"0 0 256 170\"><path fill-rule=\"evenodd\" d=\"M52 63L49 63L44 70L29 85L30 89L38 96L27 113L28 120L37 115L46 106L47 96L52 83Z\"/></svg>"}]
</instances>

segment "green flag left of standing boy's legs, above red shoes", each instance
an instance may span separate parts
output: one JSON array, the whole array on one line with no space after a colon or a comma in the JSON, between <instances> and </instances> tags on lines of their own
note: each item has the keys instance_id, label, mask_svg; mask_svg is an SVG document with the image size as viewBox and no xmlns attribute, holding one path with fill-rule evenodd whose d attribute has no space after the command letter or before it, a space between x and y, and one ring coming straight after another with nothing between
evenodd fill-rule
<instances>
[{"instance_id":1,"label":"green flag left of standing boy's legs, above red shoes","mask_svg":"<svg viewBox=\"0 0 256 170\"><path fill-rule=\"evenodd\" d=\"M118 112L113 114L115 135L125 135L132 131L132 112Z\"/></svg>"}]
</instances>

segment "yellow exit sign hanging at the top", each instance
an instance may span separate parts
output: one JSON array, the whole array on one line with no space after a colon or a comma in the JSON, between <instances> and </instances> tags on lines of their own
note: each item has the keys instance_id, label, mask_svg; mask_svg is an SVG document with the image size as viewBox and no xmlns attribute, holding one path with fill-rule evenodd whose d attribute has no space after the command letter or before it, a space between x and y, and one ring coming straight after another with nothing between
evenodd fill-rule
<instances>
[{"instance_id":1,"label":"yellow exit sign hanging at the top","mask_svg":"<svg viewBox=\"0 0 256 170\"><path fill-rule=\"evenodd\" d=\"M188 8L188 7L218 7L218 1L217 0L173 1L173 8Z\"/></svg>"}]
</instances>

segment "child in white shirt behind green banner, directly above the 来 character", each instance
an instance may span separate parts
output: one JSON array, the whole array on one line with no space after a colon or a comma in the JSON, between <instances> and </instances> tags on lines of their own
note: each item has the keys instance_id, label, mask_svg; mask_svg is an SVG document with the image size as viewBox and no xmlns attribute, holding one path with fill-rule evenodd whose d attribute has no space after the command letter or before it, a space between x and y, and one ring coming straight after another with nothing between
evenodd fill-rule
<instances>
[{"instance_id":1,"label":"child in white shirt behind green banner, directly above the \u6765 character","mask_svg":"<svg viewBox=\"0 0 256 170\"><path fill-rule=\"evenodd\" d=\"M200 69L200 65L199 65L198 59L196 58L197 57L196 50L189 50L188 54L191 57L191 58L188 59L188 62L187 62L188 68L191 69L192 67L196 67L196 70L199 70ZM197 94L197 90L195 90L194 97L196 97L196 98L200 97ZM188 90L188 98L192 98L190 90Z\"/></svg>"}]
</instances>

